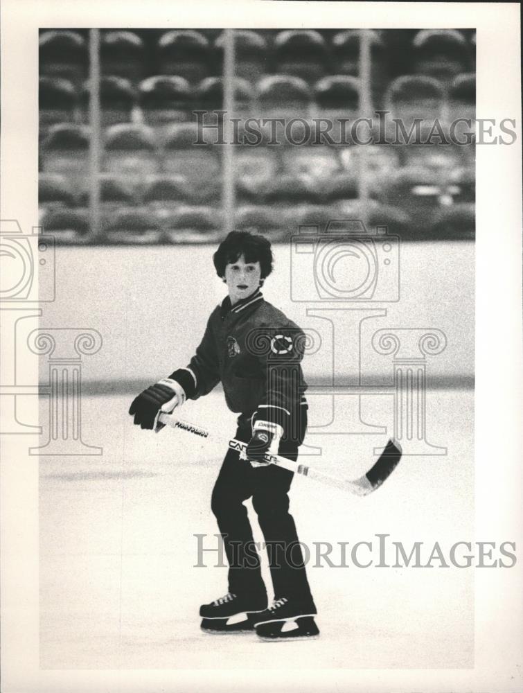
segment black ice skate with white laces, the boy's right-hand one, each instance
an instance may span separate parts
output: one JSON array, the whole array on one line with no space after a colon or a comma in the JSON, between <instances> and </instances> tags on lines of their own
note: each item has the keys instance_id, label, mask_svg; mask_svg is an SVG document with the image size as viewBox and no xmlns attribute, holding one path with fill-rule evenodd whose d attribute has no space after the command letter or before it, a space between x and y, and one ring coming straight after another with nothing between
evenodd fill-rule
<instances>
[{"instance_id":1,"label":"black ice skate with white laces, the boy's right-hand one","mask_svg":"<svg viewBox=\"0 0 523 693\"><path fill-rule=\"evenodd\" d=\"M254 628L262 640L295 640L316 638L319 629L314 622L314 605L304 606L282 597L275 599L271 606L255 615Z\"/></svg>"}]
</instances>

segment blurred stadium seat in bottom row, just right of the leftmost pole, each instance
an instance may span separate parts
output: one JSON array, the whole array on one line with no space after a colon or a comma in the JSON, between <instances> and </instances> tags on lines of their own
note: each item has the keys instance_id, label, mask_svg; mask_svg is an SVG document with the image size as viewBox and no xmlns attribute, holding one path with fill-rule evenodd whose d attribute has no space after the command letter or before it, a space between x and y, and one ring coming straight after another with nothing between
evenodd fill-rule
<instances>
[{"instance_id":1,"label":"blurred stadium seat in bottom row, just right of the leftmost pole","mask_svg":"<svg viewBox=\"0 0 523 693\"><path fill-rule=\"evenodd\" d=\"M145 207L116 209L107 219L103 236L107 243L124 245L145 245L163 240L159 220Z\"/></svg>"}]
</instances>

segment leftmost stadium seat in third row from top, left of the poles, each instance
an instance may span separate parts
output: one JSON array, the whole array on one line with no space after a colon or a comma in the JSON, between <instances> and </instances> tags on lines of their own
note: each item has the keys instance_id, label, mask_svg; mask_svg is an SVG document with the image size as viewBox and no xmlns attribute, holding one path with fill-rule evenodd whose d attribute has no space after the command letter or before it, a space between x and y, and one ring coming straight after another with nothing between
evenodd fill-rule
<instances>
[{"instance_id":1,"label":"leftmost stadium seat in third row from top, left of the poles","mask_svg":"<svg viewBox=\"0 0 523 693\"><path fill-rule=\"evenodd\" d=\"M89 177L89 134L80 125L51 125L42 141L44 173L64 175L75 186L83 187Z\"/></svg>"}]
</instances>

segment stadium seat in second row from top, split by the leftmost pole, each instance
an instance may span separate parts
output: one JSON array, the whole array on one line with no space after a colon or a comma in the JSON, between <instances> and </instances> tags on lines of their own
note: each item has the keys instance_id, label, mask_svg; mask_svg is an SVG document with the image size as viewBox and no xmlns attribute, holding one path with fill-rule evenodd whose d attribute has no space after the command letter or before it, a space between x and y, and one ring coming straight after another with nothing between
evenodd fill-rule
<instances>
[{"instance_id":1,"label":"stadium seat in second row from top, split by the leftmost pole","mask_svg":"<svg viewBox=\"0 0 523 693\"><path fill-rule=\"evenodd\" d=\"M136 105L136 91L131 82L123 77L100 78L100 117L104 128L118 123L130 123L132 112ZM89 80L81 93L83 119L90 121L89 105L91 101L91 85Z\"/></svg>"}]
</instances>

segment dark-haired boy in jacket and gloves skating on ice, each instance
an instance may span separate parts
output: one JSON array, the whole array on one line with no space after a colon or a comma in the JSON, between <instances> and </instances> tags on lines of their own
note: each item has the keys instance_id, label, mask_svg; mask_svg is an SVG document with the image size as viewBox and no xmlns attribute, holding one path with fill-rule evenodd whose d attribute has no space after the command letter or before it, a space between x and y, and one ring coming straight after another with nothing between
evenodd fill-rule
<instances>
[{"instance_id":1,"label":"dark-haired boy in jacket and gloves skating on ice","mask_svg":"<svg viewBox=\"0 0 523 693\"><path fill-rule=\"evenodd\" d=\"M231 231L213 256L229 295L211 313L195 356L187 367L139 394L129 413L136 425L152 429L160 411L172 412L222 383L227 406L239 414L235 437L248 443L247 459L229 449L213 489L211 508L229 562L229 591L202 605L202 629L254 628L260 637L275 639L318 635L319 630L289 513L293 474L263 461L268 451L296 460L308 410L300 365L305 335L260 291L272 261L266 238ZM267 544L274 587L269 606L243 505L248 498ZM238 622L240 614L245 619Z\"/></svg>"}]
</instances>

